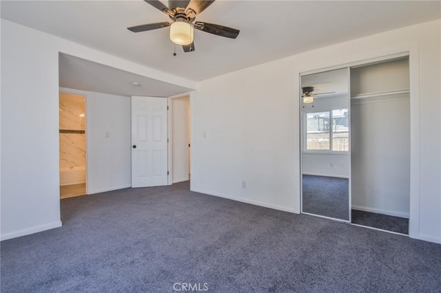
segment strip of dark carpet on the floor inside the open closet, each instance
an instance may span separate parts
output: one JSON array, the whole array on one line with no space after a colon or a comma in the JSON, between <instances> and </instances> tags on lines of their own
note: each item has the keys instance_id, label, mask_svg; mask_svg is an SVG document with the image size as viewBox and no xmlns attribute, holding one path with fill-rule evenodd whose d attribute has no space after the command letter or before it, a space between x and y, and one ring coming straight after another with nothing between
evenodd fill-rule
<instances>
[{"instance_id":1,"label":"strip of dark carpet on the floor inside the open closet","mask_svg":"<svg viewBox=\"0 0 441 293\"><path fill-rule=\"evenodd\" d=\"M401 234L409 234L409 219L402 217L352 210L352 223Z\"/></svg>"}]
</instances>

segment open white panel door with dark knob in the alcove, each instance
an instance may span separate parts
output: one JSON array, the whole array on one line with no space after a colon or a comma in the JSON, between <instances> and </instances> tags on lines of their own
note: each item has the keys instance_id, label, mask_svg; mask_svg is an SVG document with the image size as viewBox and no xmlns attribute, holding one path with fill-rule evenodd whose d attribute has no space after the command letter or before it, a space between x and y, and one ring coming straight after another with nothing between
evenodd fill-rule
<instances>
[{"instance_id":1,"label":"open white panel door with dark knob in the alcove","mask_svg":"<svg viewBox=\"0 0 441 293\"><path fill-rule=\"evenodd\" d=\"M167 98L132 96L132 187L167 185Z\"/></svg>"}]
</instances>

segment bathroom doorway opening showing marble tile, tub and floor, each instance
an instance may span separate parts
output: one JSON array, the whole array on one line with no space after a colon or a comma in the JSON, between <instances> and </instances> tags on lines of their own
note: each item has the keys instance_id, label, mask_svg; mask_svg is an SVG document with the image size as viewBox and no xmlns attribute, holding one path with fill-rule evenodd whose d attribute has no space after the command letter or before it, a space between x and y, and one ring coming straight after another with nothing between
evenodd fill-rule
<instances>
[{"instance_id":1,"label":"bathroom doorway opening showing marble tile, tub and floor","mask_svg":"<svg viewBox=\"0 0 441 293\"><path fill-rule=\"evenodd\" d=\"M86 194L85 96L59 93L60 199Z\"/></svg>"}]
</instances>

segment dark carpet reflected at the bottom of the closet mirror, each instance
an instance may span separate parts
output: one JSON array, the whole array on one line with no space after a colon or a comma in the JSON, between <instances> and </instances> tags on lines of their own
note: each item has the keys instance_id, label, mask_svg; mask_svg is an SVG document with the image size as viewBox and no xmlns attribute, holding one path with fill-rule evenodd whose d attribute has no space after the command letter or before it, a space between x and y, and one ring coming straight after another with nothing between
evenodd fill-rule
<instances>
[{"instance_id":1,"label":"dark carpet reflected at the bottom of the closet mirror","mask_svg":"<svg viewBox=\"0 0 441 293\"><path fill-rule=\"evenodd\" d=\"M349 220L347 178L302 175L303 212Z\"/></svg>"}]
</instances>

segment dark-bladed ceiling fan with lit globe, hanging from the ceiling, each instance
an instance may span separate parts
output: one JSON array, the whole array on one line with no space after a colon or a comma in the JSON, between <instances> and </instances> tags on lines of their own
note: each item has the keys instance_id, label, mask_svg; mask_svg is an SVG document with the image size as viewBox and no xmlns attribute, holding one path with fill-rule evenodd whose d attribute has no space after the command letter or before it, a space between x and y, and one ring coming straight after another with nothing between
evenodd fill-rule
<instances>
[{"instance_id":1,"label":"dark-bladed ceiling fan with lit globe, hanging from the ceiling","mask_svg":"<svg viewBox=\"0 0 441 293\"><path fill-rule=\"evenodd\" d=\"M194 51L194 29L226 38L236 39L239 30L223 25L196 21L196 15L203 12L214 0L169 0L169 7L158 0L144 0L154 8L167 14L172 22L148 23L127 28L132 32L145 32L170 26L170 40L176 45L182 45L184 52ZM175 53L176 54L176 53Z\"/></svg>"}]
</instances>

